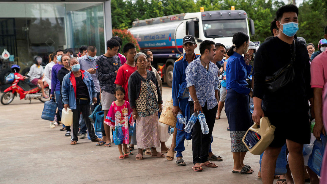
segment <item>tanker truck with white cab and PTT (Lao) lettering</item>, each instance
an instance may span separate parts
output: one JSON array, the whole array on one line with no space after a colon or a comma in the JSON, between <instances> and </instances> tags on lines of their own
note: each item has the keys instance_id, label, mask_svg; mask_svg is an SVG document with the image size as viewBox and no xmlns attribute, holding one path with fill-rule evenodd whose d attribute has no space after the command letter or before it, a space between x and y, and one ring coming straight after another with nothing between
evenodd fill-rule
<instances>
[{"instance_id":1,"label":"tanker truck with white cab and PTT (Lao) lettering","mask_svg":"<svg viewBox=\"0 0 327 184\"><path fill-rule=\"evenodd\" d=\"M174 62L183 55L182 40L193 35L199 45L203 40L232 45L234 33L254 35L253 20L243 10L215 10L181 13L134 21L129 29L142 49L153 53L153 67L163 82L172 86ZM195 50L200 54L199 46Z\"/></svg>"}]
</instances>

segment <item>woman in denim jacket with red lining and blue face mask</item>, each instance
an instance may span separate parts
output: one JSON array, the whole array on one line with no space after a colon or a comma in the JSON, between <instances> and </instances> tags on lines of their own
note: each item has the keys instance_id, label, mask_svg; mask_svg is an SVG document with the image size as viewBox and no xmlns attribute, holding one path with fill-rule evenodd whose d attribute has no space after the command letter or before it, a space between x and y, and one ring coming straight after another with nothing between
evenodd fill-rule
<instances>
[{"instance_id":1,"label":"woman in denim jacket with red lining and blue face mask","mask_svg":"<svg viewBox=\"0 0 327 184\"><path fill-rule=\"evenodd\" d=\"M80 65L77 58L69 59L69 65L71 72L63 77L61 94L63 108L72 109L73 112L73 124L71 125L71 142L74 145L77 143L77 132L79 124L79 115L82 112L87 130L89 132L91 141L101 141L96 135L94 126L89 119L91 115L91 103L96 103L96 91L93 83L93 79L90 73L84 70L80 70Z\"/></svg>"}]
</instances>

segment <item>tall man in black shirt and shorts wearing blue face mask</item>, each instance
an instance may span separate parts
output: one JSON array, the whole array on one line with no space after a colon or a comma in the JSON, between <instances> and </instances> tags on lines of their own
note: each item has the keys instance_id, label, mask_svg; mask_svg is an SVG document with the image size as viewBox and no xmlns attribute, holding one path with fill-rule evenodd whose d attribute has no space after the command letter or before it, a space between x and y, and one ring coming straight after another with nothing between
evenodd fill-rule
<instances>
[{"instance_id":1,"label":"tall man in black shirt and shorts wearing blue face mask","mask_svg":"<svg viewBox=\"0 0 327 184\"><path fill-rule=\"evenodd\" d=\"M276 25L279 34L262 43L254 59L252 118L259 124L260 118L266 116L271 125L276 127L274 140L265 150L261 162L263 183L273 183L276 160L285 142L294 183L304 183L302 148L303 144L310 143L308 100L312 103L313 91L310 86L309 55L305 45L294 40L299 29L298 14L299 9L295 5L286 5L277 10ZM293 63L290 70L294 72L281 73L281 69L290 63ZM266 77L278 74L293 80L283 80L286 83L283 87L266 81Z\"/></svg>"}]
</instances>

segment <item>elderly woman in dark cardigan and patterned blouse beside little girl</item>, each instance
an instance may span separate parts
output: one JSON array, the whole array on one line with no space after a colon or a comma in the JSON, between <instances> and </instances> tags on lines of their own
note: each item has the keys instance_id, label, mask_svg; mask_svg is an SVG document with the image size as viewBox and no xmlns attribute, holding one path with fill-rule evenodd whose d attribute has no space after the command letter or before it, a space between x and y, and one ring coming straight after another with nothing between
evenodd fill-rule
<instances>
[{"instance_id":1,"label":"elderly woman in dark cardigan and patterned blouse beside little girl","mask_svg":"<svg viewBox=\"0 0 327 184\"><path fill-rule=\"evenodd\" d=\"M136 142L138 154L136 160L143 160L142 149L151 148L151 157L164 158L157 152L160 147L158 111L162 111L162 97L158 81L153 72L146 70L147 60L144 53L134 57L138 69L128 80L128 95L133 118L136 120Z\"/></svg>"}]
</instances>

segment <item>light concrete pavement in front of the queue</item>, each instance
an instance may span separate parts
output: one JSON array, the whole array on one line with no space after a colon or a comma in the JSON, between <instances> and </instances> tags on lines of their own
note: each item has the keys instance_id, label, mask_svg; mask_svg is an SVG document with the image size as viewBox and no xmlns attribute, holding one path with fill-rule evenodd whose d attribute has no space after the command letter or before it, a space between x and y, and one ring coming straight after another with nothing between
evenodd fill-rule
<instances>
[{"instance_id":1,"label":"light concrete pavement in front of the queue","mask_svg":"<svg viewBox=\"0 0 327 184\"><path fill-rule=\"evenodd\" d=\"M163 100L168 94L171 88L164 87ZM245 163L254 169L253 174L232 173L224 111L215 122L212 143L213 153L223 161L215 162L218 168L204 167L202 172L194 172L191 141L185 140L186 166L177 166L176 157L168 161L144 155L144 160L135 160L137 149L130 158L119 160L116 145L95 146L96 142L87 138L70 145L70 137L59 131L61 126L49 128L49 121L41 119L42 110L40 101L29 104L19 97L9 105L0 104L0 183L261 183L257 177L259 156L248 153L245 158ZM167 147L171 139L172 136Z\"/></svg>"}]
</instances>

